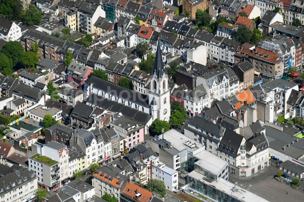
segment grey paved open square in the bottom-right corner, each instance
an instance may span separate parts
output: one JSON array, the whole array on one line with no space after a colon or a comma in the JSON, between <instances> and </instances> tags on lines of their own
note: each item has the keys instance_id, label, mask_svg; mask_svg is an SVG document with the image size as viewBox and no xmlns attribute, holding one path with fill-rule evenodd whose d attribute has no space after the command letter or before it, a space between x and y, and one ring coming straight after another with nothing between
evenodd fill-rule
<instances>
[{"instance_id":1,"label":"grey paved open square in the bottom-right corner","mask_svg":"<svg viewBox=\"0 0 304 202\"><path fill-rule=\"evenodd\" d=\"M300 181L301 188L296 190L285 182L279 182L274 179L274 176L277 175L278 171L278 168L275 166L268 166L250 177L236 177L232 175L229 177L236 180L238 186L269 201L303 201L304 183ZM294 178L295 177L290 177L291 180Z\"/></svg>"}]
</instances>

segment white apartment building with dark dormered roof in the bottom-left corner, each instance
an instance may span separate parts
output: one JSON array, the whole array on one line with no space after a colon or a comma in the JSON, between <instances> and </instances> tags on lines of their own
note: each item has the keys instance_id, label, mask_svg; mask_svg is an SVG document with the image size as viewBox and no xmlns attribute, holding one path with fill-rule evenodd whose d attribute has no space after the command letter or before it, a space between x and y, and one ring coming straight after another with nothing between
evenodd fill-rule
<instances>
[{"instance_id":1,"label":"white apartment building with dark dormered roof in the bottom-left corner","mask_svg":"<svg viewBox=\"0 0 304 202\"><path fill-rule=\"evenodd\" d=\"M36 174L33 170L20 166L13 167L0 164L2 183L0 188L1 201L19 202L34 200L38 188Z\"/></svg>"}]
</instances>

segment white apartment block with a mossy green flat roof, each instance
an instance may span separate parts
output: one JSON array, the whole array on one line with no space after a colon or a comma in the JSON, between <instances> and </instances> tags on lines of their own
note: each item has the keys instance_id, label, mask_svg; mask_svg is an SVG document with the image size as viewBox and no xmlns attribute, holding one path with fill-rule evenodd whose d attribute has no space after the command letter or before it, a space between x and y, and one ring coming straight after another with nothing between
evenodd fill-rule
<instances>
[{"instance_id":1,"label":"white apartment block with a mossy green flat roof","mask_svg":"<svg viewBox=\"0 0 304 202\"><path fill-rule=\"evenodd\" d=\"M33 146L32 146L33 148ZM59 162L39 153L29 157L29 170L37 175L37 182L46 190L60 187Z\"/></svg>"}]
</instances>

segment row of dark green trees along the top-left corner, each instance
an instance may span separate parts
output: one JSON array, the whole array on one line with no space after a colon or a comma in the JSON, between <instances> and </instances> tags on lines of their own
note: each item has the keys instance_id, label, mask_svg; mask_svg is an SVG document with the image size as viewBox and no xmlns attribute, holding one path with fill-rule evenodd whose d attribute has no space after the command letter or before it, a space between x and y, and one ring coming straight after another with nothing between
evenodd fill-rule
<instances>
[{"instance_id":1,"label":"row of dark green trees along the top-left corner","mask_svg":"<svg viewBox=\"0 0 304 202\"><path fill-rule=\"evenodd\" d=\"M9 20L23 22L28 25L40 25L43 14L36 6L29 4L27 10L22 10L22 1L2 0L0 2L0 16Z\"/></svg>"}]
</instances>

